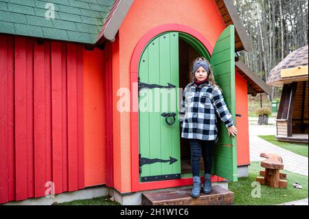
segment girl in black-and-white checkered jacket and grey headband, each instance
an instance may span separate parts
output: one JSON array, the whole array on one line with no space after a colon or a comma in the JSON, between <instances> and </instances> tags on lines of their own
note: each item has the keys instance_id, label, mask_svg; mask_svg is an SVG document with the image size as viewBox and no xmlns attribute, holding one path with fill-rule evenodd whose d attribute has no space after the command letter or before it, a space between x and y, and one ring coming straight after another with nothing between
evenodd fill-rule
<instances>
[{"instance_id":1,"label":"girl in black-and-white checkered jacket and grey headband","mask_svg":"<svg viewBox=\"0 0 309 219\"><path fill-rule=\"evenodd\" d=\"M214 143L218 141L218 128L215 111L227 126L229 136L235 137L237 129L233 117L227 109L222 91L216 85L209 62L196 58L192 65L194 81L187 84L181 101L181 137L189 139L191 147L191 166L193 188L191 196L197 198L201 192L200 157L204 160L203 192L211 192L211 156Z\"/></svg>"}]
</instances>

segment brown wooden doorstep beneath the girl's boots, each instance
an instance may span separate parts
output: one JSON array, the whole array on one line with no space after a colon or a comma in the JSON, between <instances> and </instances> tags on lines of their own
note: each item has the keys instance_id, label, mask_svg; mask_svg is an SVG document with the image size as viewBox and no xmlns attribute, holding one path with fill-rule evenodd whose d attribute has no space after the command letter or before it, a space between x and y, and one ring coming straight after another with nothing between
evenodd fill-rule
<instances>
[{"instance_id":1,"label":"brown wooden doorstep beneath the girl's boots","mask_svg":"<svg viewBox=\"0 0 309 219\"><path fill-rule=\"evenodd\" d=\"M233 205L233 192L212 186L210 194L198 198L190 196L192 189L165 190L161 192L145 192L141 194L141 205Z\"/></svg>"}]
</instances>

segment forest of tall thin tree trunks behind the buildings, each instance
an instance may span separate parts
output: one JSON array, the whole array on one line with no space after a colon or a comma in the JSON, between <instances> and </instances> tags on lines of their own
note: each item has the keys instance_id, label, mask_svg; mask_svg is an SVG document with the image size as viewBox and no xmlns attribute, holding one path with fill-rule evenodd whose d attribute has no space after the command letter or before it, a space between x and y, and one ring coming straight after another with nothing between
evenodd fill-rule
<instances>
[{"instance_id":1,"label":"forest of tall thin tree trunks behind the buildings","mask_svg":"<svg viewBox=\"0 0 309 219\"><path fill-rule=\"evenodd\" d=\"M234 0L253 49L240 51L240 59L264 82L268 75L291 51L308 45L308 1L304 0ZM271 108L282 88L271 87L272 93L249 95L249 115L262 102ZM262 101L261 101L262 100Z\"/></svg>"}]
</instances>

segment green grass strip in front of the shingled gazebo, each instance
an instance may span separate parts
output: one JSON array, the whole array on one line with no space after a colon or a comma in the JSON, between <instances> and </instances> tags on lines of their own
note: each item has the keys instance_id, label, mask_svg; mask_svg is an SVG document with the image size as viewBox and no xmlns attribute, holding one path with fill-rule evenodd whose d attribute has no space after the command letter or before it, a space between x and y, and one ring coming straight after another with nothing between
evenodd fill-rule
<instances>
[{"instance_id":1,"label":"green grass strip in front of the shingled gazebo","mask_svg":"<svg viewBox=\"0 0 309 219\"><path fill-rule=\"evenodd\" d=\"M273 143L276 146L279 146L280 148L284 148L286 150L290 150L290 152L293 152L295 154L308 157L308 144L288 143L288 142L277 141L275 139L275 135L258 135L258 137L270 143Z\"/></svg>"}]
</instances>

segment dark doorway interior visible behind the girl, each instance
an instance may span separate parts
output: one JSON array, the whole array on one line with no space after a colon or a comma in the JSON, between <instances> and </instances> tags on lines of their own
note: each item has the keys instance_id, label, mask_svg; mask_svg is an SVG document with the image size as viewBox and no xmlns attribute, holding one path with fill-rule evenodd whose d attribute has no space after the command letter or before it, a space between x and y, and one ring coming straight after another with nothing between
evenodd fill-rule
<instances>
[{"instance_id":1,"label":"dark doorway interior visible behind the girl","mask_svg":"<svg viewBox=\"0 0 309 219\"><path fill-rule=\"evenodd\" d=\"M198 57L198 52L185 41L179 40L179 87L185 89L192 82L192 62ZM182 93L181 93L182 95ZM181 127L180 127L181 128ZM181 133L181 130L180 130ZM180 134L181 135L181 134ZM181 174L192 174L190 144L188 139L181 138ZM201 158L201 169L204 170Z\"/></svg>"}]
</instances>

